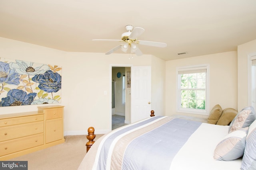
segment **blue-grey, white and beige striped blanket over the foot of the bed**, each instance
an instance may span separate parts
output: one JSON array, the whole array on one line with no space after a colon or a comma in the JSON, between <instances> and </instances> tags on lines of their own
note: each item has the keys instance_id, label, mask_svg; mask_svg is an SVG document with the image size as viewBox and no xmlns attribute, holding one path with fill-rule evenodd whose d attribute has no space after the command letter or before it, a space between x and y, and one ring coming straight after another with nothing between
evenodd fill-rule
<instances>
[{"instance_id":1,"label":"blue-grey, white and beige striped blanket over the foot of the bed","mask_svg":"<svg viewBox=\"0 0 256 170\"><path fill-rule=\"evenodd\" d=\"M102 139L92 169L169 169L175 154L200 125L157 116L116 129Z\"/></svg>"}]
</instances>

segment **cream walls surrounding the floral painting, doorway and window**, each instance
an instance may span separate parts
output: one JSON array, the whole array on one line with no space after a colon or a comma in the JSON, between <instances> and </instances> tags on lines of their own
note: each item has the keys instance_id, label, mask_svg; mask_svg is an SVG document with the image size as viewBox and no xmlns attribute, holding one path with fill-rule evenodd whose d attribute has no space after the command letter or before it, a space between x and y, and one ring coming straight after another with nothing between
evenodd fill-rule
<instances>
[{"instance_id":1,"label":"cream walls surrounding the floral painting, doorway and window","mask_svg":"<svg viewBox=\"0 0 256 170\"><path fill-rule=\"evenodd\" d=\"M231 51L212 55L163 61L152 55L129 59L127 54L76 53L59 51L0 37L1 57L62 66L64 133L87 134L111 129L111 65L151 66L152 109L156 115L176 113L176 67L210 65L210 108L242 109L247 106L247 55L256 52L256 40ZM107 95L104 95L104 91ZM0 114L36 111L37 106L0 107ZM149 113L150 114L150 113ZM199 116L199 115L198 115ZM199 116L200 117L200 116Z\"/></svg>"}]
</instances>

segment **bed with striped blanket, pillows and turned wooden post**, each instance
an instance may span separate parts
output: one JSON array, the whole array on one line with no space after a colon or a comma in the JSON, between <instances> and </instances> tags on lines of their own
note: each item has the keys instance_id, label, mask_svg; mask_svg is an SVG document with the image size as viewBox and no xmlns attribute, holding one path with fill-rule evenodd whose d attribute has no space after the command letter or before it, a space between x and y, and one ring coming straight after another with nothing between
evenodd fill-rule
<instances>
[{"instance_id":1,"label":"bed with striped blanket, pillows and turned wooden post","mask_svg":"<svg viewBox=\"0 0 256 170\"><path fill-rule=\"evenodd\" d=\"M236 126L233 121L239 114L230 126L152 116L115 129L95 143L89 128L90 150L78 170L240 170L242 164L243 170L255 170L256 158L249 155L249 163L242 158L248 131L256 136L255 111L249 112L250 123L246 119L247 124L236 129L230 127ZM255 137L250 140L255 147ZM256 148L247 148L252 149Z\"/></svg>"}]
</instances>

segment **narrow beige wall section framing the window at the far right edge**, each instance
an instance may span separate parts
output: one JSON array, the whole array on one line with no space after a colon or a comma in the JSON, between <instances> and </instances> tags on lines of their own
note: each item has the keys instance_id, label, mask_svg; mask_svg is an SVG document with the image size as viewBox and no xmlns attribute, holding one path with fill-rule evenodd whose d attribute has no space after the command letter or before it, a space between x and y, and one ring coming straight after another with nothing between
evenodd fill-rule
<instances>
[{"instance_id":1,"label":"narrow beige wall section framing the window at the far right edge","mask_svg":"<svg viewBox=\"0 0 256 170\"><path fill-rule=\"evenodd\" d=\"M238 45L238 110L248 104L248 55L256 52L256 40Z\"/></svg>"}]
</instances>

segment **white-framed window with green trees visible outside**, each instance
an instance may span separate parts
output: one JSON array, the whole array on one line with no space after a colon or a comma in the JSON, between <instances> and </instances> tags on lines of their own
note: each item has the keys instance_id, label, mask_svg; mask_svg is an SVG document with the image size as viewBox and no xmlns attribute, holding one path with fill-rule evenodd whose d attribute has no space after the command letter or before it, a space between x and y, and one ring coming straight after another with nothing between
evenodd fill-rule
<instances>
[{"instance_id":1,"label":"white-framed window with green trees visible outside","mask_svg":"<svg viewBox=\"0 0 256 170\"><path fill-rule=\"evenodd\" d=\"M208 65L177 68L177 111L184 113L208 113Z\"/></svg>"}]
</instances>

